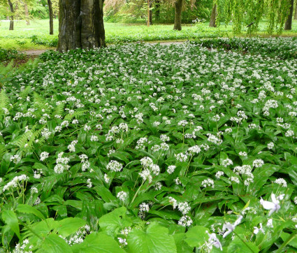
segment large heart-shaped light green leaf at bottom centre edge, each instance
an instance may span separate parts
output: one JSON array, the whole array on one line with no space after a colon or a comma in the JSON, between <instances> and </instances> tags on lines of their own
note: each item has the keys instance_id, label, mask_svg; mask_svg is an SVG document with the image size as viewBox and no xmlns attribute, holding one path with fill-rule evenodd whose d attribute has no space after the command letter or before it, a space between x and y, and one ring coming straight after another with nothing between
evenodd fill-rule
<instances>
[{"instance_id":1,"label":"large heart-shaped light green leaf at bottom centre edge","mask_svg":"<svg viewBox=\"0 0 297 253\"><path fill-rule=\"evenodd\" d=\"M174 238L168 235L168 229L155 222L150 224L146 231L133 229L128 235L127 242L132 253L177 252Z\"/></svg>"}]
</instances>

